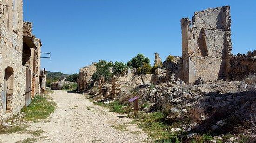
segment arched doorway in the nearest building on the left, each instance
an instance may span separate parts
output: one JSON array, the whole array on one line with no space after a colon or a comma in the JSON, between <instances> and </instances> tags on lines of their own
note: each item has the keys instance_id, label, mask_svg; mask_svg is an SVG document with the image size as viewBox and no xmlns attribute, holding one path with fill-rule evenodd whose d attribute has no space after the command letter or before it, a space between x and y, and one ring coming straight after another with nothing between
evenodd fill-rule
<instances>
[{"instance_id":1,"label":"arched doorway in the nearest building on the left","mask_svg":"<svg viewBox=\"0 0 256 143\"><path fill-rule=\"evenodd\" d=\"M7 67L5 69L5 78L4 78L4 93L2 94L3 99L3 112L11 112L12 105L10 96L13 95L13 82L14 82L14 71L12 67Z\"/></svg>"}]
</instances>

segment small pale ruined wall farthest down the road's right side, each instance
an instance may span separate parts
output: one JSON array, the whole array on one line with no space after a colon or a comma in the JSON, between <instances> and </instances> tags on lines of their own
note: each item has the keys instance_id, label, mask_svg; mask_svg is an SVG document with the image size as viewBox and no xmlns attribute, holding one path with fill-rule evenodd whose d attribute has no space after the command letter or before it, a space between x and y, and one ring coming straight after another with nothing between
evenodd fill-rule
<instances>
[{"instance_id":1,"label":"small pale ruined wall farthest down the road's right side","mask_svg":"<svg viewBox=\"0 0 256 143\"><path fill-rule=\"evenodd\" d=\"M77 89L79 91L84 91L88 88L92 75L95 72L96 72L95 64L79 69L79 75L77 79Z\"/></svg>"}]
</instances>

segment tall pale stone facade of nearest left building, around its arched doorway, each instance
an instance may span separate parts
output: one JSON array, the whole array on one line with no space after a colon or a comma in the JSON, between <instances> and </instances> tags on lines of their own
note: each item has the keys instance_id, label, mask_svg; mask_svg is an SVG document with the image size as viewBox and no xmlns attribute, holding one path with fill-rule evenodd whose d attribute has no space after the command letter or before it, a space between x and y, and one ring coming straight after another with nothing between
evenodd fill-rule
<instances>
[{"instance_id":1,"label":"tall pale stone facade of nearest left building, around its arched doorway","mask_svg":"<svg viewBox=\"0 0 256 143\"><path fill-rule=\"evenodd\" d=\"M25 67L22 66L23 1L0 0L0 122L7 112L17 114L25 106ZM3 112L5 69L13 70Z\"/></svg>"}]
</instances>

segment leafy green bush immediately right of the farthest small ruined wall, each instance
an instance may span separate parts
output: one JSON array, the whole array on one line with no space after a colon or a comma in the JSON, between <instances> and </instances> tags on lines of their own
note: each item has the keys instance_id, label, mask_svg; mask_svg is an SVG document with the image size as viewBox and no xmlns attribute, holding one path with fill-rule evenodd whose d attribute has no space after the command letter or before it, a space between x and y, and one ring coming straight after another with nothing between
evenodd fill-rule
<instances>
[{"instance_id":1,"label":"leafy green bush immediately right of the farthest small ruined wall","mask_svg":"<svg viewBox=\"0 0 256 143\"><path fill-rule=\"evenodd\" d=\"M96 72L92 75L94 81L98 81L101 75L105 78L105 81L110 81L112 73L110 72L110 67L113 66L112 62L106 62L105 60L100 60L96 63Z\"/></svg>"}]
</instances>

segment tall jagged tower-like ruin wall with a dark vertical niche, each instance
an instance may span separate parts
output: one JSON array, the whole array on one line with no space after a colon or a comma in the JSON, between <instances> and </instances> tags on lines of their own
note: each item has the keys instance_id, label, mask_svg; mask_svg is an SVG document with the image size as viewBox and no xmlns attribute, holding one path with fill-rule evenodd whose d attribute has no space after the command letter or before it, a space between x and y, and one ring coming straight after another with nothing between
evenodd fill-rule
<instances>
[{"instance_id":1,"label":"tall jagged tower-like ruin wall with a dark vertical niche","mask_svg":"<svg viewBox=\"0 0 256 143\"><path fill-rule=\"evenodd\" d=\"M183 80L226 78L231 56L230 6L195 12L181 19Z\"/></svg>"}]
</instances>

